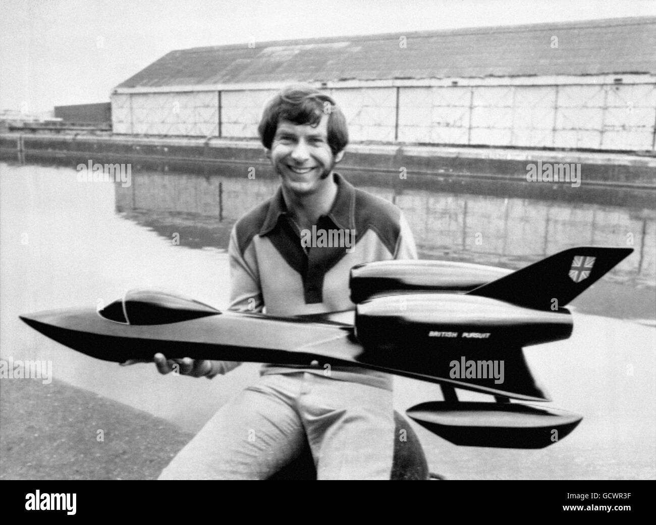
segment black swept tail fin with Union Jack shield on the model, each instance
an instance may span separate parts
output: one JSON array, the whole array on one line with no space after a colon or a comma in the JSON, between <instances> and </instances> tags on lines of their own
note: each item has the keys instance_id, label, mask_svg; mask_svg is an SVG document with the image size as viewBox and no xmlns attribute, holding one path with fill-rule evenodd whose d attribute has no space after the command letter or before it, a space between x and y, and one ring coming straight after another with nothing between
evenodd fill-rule
<instances>
[{"instance_id":1,"label":"black swept tail fin with Union Jack shield on the model","mask_svg":"<svg viewBox=\"0 0 656 525\"><path fill-rule=\"evenodd\" d=\"M579 246L552 255L468 294L489 297L538 310L565 306L598 281L632 248Z\"/></svg>"}]
</instances>

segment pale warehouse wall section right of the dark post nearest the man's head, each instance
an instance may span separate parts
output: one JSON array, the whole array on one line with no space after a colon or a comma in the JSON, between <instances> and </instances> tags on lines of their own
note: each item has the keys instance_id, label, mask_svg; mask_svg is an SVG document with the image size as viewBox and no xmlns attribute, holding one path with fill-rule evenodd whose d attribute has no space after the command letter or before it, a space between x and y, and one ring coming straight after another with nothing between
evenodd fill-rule
<instances>
[{"instance_id":1,"label":"pale warehouse wall section right of the dark post nearest the man's head","mask_svg":"<svg viewBox=\"0 0 656 525\"><path fill-rule=\"evenodd\" d=\"M655 85L403 88L400 142L653 149Z\"/></svg>"}]
</instances>

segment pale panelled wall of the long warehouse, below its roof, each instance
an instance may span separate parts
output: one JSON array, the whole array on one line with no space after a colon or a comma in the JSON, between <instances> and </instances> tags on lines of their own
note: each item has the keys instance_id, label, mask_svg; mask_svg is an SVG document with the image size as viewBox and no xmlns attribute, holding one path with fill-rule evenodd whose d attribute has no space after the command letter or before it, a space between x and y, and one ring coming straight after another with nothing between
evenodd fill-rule
<instances>
[{"instance_id":1,"label":"pale panelled wall of the long warehouse, below its roof","mask_svg":"<svg viewBox=\"0 0 656 525\"><path fill-rule=\"evenodd\" d=\"M352 142L653 151L656 83L348 87ZM256 138L276 90L114 94L119 134Z\"/></svg>"}]
</instances>

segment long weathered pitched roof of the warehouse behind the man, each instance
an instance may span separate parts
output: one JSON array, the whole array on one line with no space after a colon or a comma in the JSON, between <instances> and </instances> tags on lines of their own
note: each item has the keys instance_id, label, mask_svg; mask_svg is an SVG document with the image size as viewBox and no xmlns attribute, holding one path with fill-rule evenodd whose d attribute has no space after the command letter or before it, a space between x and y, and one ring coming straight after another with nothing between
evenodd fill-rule
<instances>
[{"instance_id":1,"label":"long weathered pitched roof of the warehouse behind the man","mask_svg":"<svg viewBox=\"0 0 656 525\"><path fill-rule=\"evenodd\" d=\"M197 47L118 87L603 73L656 73L656 17Z\"/></svg>"}]
</instances>

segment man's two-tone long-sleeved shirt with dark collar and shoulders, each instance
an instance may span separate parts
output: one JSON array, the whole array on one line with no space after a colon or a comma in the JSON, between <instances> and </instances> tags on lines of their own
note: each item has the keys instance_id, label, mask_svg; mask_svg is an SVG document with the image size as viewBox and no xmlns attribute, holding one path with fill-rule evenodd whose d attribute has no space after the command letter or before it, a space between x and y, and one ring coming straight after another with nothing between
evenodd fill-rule
<instances>
[{"instance_id":1,"label":"man's two-tone long-sleeved shirt with dark collar and shoulders","mask_svg":"<svg viewBox=\"0 0 656 525\"><path fill-rule=\"evenodd\" d=\"M333 177L333 206L311 230L299 231L281 188L237 221L228 248L230 309L283 316L354 309L348 288L354 265L417 258L397 206L356 189L340 174ZM320 367L267 364L262 369L263 374L299 371L324 374ZM331 378L388 389L392 385L388 374L364 368L333 367Z\"/></svg>"}]
</instances>

